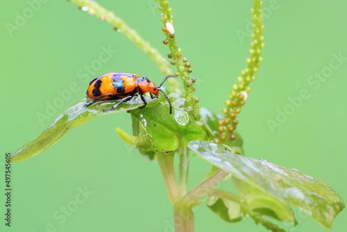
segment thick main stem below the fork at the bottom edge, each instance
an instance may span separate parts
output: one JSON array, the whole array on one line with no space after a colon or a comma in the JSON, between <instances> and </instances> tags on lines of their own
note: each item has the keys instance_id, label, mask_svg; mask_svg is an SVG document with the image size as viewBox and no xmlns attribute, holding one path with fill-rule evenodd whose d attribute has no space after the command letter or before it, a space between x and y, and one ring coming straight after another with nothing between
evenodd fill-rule
<instances>
[{"instance_id":1,"label":"thick main stem below the fork at the bottom edge","mask_svg":"<svg viewBox=\"0 0 347 232\"><path fill-rule=\"evenodd\" d=\"M175 232L194 232L192 208L174 208Z\"/></svg>"}]
</instances>

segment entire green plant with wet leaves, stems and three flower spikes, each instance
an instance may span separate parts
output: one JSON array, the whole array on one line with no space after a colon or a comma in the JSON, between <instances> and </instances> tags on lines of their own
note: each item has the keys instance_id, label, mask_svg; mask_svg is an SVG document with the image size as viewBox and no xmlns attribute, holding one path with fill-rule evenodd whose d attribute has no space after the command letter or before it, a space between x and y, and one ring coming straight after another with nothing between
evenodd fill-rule
<instances>
[{"instance_id":1,"label":"entire green plant with wet leaves, stems and three flower spikes","mask_svg":"<svg viewBox=\"0 0 347 232\"><path fill-rule=\"evenodd\" d=\"M151 56L164 76L174 74L169 63L156 49L147 44L133 29L112 12L105 10L92 1L73 1L87 8L91 14L110 22L117 30L128 36L140 49ZM238 124L235 119L241 112L246 96L251 90L249 83L255 80L255 72L262 60L263 47L261 2L253 3L253 43L248 67L237 78L238 85L232 86L227 108L223 115L217 115L205 108L199 108L194 97L195 78L187 58L183 58L178 49L171 8L167 1L160 2L162 13L162 31L166 38L163 43L170 49L171 64L176 66L182 78L184 94L176 79L169 79L170 97L174 104L174 114L169 115L166 99L160 97L151 100L142 110L142 101L133 99L109 113L129 110L133 120L133 135L117 129L121 138L128 144L137 146L139 152L150 160L158 160L169 199L174 206L176 231L194 231L192 208L201 204L202 197L210 197L207 204L214 213L228 222L239 222L246 215L267 229L282 231L273 224L273 219L296 224L294 206L309 214L321 225L330 228L333 219L344 208L341 197L325 183L302 174L297 170L280 167L266 160L255 160L243 156L242 139L235 131ZM69 129L99 115L105 115L104 108L117 102L97 104L85 108L88 99L83 99L62 113L37 140L19 149L12 162L22 161L44 151L62 138ZM214 142L212 142L212 140ZM197 154L212 164L212 170L200 184L187 190L189 153ZM174 157L180 158L179 179L174 169ZM226 179L231 179L239 195L216 189ZM271 220L271 221L270 221Z\"/></svg>"}]
</instances>

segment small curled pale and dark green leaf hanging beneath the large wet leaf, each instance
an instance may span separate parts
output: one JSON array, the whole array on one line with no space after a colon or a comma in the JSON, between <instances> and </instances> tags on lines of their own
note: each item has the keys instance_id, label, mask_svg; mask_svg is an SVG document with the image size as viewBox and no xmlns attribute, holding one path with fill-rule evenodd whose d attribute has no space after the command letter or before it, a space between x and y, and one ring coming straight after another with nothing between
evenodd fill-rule
<instances>
[{"instance_id":1,"label":"small curled pale and dark green leaf hanging beneath the large wet leaf","mask_svg":"<svg viewBox=\"0 0 347 232\"><path fill-rule=\"evenodd\" d=\"M242 210L239 203L229 199L210 197L206 202L208 208L219 215L226 222L239 222L242 220Z\"/></svg>"}]
</instances>

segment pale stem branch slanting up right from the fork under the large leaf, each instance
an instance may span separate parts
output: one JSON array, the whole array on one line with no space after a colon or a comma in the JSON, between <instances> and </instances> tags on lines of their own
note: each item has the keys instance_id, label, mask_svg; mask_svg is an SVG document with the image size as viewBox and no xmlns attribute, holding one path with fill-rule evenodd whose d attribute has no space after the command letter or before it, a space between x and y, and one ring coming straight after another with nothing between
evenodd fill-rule
<instances>
[{"instance_id":1,"label":"pale stem branch slanting up right from the fork under the large leaf","mask_svg":"<svg viewBox=\"0 0 347 232\"><path fill-rule=\"evenodd\" d=\"M199 183L196 185L192 190L187 192L182 199L178 202L176 206L180 207L193 207L196 204L196 201L201 199L201 197L205 197L208 192L210 192L212 189L214 189L223 179L225 179L227 176L227 173L224 172L222 169L219 169L213 176L211 176L209 179L206 179L205 181Z\"/></svg>"}]
</instances>

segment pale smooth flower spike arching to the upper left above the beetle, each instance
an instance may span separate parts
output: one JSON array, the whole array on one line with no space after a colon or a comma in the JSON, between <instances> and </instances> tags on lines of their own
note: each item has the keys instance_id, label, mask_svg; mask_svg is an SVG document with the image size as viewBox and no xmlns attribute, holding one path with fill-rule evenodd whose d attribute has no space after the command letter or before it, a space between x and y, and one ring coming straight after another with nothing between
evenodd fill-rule
<instances>
[{"instance_id":1,"label":"pale smooth flower spike arching to the upper left above the beetle","mask_svg":"<svg viewBox=\"0 0 347 232\"><path fill-rule=\"evenodd\" d=\"M103 6L91 0L71 1L73 3L77 3L80 7L87 7L90 15L96 15L96 17L99 17L105 20L106 22L109 22L115 27L115 29L117 29L117 31L126 35L129 38L129 40L137 44L137 46L140 49L142 49L142 51L144 51L151 57L151 59L159 67L160 72L162 72L164 76L174 74L169 63L167 62L167 60L164 59L164 57L162 57L159 51L153 48L151 44L149 44L149 42L146 42L133 28L130 28L130 26L128 26L128 24L126 24L126 22L123 19L117 17L115 13L103 8ZM169 89L171 92L177 92L181 94L180 84L175 78L169 78L167 79L167 82L169 83Z\"/></svg>"}]
</instances>

